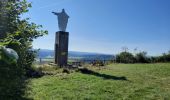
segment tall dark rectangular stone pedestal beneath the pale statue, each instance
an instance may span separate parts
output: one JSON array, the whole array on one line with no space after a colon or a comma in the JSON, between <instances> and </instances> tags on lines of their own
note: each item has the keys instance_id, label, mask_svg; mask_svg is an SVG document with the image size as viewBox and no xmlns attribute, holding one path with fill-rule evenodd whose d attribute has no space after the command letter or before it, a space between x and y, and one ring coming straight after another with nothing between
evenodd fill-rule
<instances>
[{"instance_id":1,"label":"tall dark rectangular stone pedestal beneath the pale statue","mask_svg":"<svg viewBox=\"0 0 170 100\"><path fill-rule=\"evenodd\" d=\"M55 37L55 63L60 66L67 66L68 60L69 33L58 31Z\"/></svg>"}]
</instances>

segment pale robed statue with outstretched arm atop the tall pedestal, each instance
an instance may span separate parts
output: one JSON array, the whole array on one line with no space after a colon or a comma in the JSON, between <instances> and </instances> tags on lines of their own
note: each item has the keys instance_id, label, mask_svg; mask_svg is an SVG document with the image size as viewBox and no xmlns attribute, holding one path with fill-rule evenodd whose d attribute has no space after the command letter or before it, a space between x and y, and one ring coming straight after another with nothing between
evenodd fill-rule
<instances>
[{"instance_id":1,"label":"pale robed statue with outstretched arm atop the tall pedestal","mask_svg":"<svg viewBox=\"0 0 170 100\"><path fill-rule=\"evenodd\" d=\"M57 15L58 17L58 27L59 27L59 31L66 31L66 27L67 27L67 23L68 23L68 18L69 16L66 14L65 10L62 9L61 13L57 13L57 12L52 12L54 15Z\"/></svg>"}]
</instances>

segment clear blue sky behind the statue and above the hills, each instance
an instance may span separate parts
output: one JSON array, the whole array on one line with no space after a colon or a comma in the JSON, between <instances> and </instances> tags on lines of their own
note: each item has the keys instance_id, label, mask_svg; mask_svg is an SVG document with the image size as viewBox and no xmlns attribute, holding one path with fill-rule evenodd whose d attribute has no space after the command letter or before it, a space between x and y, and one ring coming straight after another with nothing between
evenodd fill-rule
<instances>
[{"instance_id":1,"label":"clear blue sky behind the statue and above the hills","mask_svg":"<svg viewBox=\"0 0 170 100\"><path fill-rule=\"evenodd\" d=\"M70 16L69 50L117 54L126 46L160 55L170 50L170 0L28 0L32 8L24 15L43 25L47 36L34 48L53 49L57 16L63 8Z\"/></svg>"}]
</instances>

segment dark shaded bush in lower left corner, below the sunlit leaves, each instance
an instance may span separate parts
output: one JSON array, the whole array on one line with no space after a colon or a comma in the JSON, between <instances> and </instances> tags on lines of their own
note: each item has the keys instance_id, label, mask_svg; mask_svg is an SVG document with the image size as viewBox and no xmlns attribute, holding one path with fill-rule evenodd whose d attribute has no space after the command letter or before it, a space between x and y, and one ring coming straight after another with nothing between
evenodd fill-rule
<instances>
[{"instance_id":1,"label":"dark shaded bush in lower left corner, below the sunlit leaves","mask_svg":"<svg viewBox=\"0 0 170 100\"><path fill-rule=\"evenodd\" d=\"M24 70L17 65L17 53L9 48L0 47L0 99L13 97L22 99Z\"/></svg>"}]
</instances>

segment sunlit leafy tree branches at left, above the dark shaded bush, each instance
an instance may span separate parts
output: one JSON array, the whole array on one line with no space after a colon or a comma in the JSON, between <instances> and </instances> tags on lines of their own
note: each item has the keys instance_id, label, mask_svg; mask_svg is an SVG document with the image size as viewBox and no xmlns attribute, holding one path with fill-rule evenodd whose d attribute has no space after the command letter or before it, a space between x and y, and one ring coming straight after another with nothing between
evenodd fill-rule
<instances>
[{"instance_id":1,"label":"sunlit leafy tree branches at left, above the dark shaded bush","mask_svg":"<svg viewBox=\"0 0 170 100\"><path fill-rule=\"evenodd\" d=\"M29 7L31 4L26 0L8 0L5 6L6 22L8 22L5 33L8 36L1 40L6 47L18 53L18 66L26 69L31 66L35 58L36 51L32 49L33 40L48 33L40 30L41 25L30 23L29 18L20 18L21 14L28 12Z\"/></svg>"}]
</instances>

